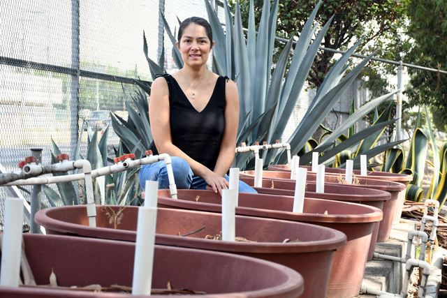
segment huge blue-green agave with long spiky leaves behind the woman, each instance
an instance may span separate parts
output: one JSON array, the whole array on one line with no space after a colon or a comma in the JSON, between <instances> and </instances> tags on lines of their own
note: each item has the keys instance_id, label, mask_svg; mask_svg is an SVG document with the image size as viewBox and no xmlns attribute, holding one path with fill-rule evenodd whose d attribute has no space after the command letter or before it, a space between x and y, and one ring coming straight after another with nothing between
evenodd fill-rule
<instances>
[{"instance_id":1,"label":"huge blue-green agave with long spiky leaves behind the woman","mask_svg":"<svg viewBox=\"0 0 447 298\"><path fill-rule=\"evenodd\" d=\"M212 9L210 2L205 0L207 8L208 19L210 21L215 44L213 47L213 70L219 75L226 75L234 80L239 89L240 96L240 125L237 133L237 143L246 142L251 144L254 142L267 141L269 143L274 140L281 139L288 119L291 117L293 107L298 100L298 96L302 87L304 86L309 70L312 66L312 61L316 56L318 47L323 36L330 27L330 22L316 34L318 26L314 25L314 19L318 11L320 3L317 4L312 15L306 22L306 25L300 34L298 41L291 38L282 50L279 60L272 73L272 57L274 51L274 34L277 24L277 11L279 1L275 0L270 6L270 1L265 1L263 4L263 13L261 22L256 35L254 24L254 5L251 1L249 28L247 38L244 36L242 29L242 20L240 16L239 2L236 3L234 22L233 16L230 14L230 8L227 1L225 1L226 11L226 31L223 31L219 19ZM168 23L163 15L163 23L166 28L168 36L175 45L175 37L173 36ZM246 42L247 40L247 42ZM156 64L149 59L147 52L147 42L143 33L143 51L148 61L149 68L154 79L156 74L165 73L163 69L163 61ZM295 47L293 48L293 44ZM307 111L307 114L302 119L300 125L296 128L292 137L288 142L291 144L292 154L298 154L305 144L308 142L316 128L321 124L328 112L337 103L337 100L349 88L353 80L356 79L360 70L367 64L370 57L361 61L356 67L350 69L349 58L356 50L360 40L356 45L353 45L346 54L344 54L339 61L332 67L325 78L320 89L312 101L312 104ZM288 64L288 57L293 50L293 58L291 59L290 67L287 75L286 66ZM178 68L182 68L183 61L177 47L173 46L173 60ZM347 70L350 71L348 72ZM346 74L347 73L347 74ZM256 75L254 75L256 74ZM285 76L284 76L285 75ZM135 81L140 87L150 95L150 86L139 81ZM349 126L365 116L369 111L374 109L383 101L388 100L392 94L381 96L372 100L370 103L362 107L348 119ZM152 135L149 127L149 117L147 115L147 98L144 93L139 92L133 96L133 104L131 107L126 103L129 111L129 121L116 119L112 117L112 126L121 137L124 147L129 150L137 146L140 142L137 152L149 148ZM121 123L119 123L121 122ZM345 121L346 123L346 121ZM341 152L342 150L354 146L356 143L363 140L368 135L379 133L383 131L386 125L391 122L382 121L374 124L374 126L367 128L356 134L356 138L351 137L345 140L343 146L337 146L333 151L327 151L324 154L325 158L331 158ZM348 127L349 127L348 126ZM339 128L332 135L342 135L343 131ZM338 136L335 136L337 138ZM374 139L376 140L376 139ZM333 141L333 140L332 140ZM369 142L368 144L375 144ZM372 154L379 154L382 151L390 148L394 144L375 149L375 151L367 151L368 156ZM323 151L328 147L332 147L332 142L325 140L325 144L320 144L317 151ZM344 149L343 149L344 147ZM366 148L367 146L362 146ZM371 147L368 150L372 149ZM333 154L333 156L330 156ZM308 154L309 156L309 154ZM240 168L253 167L254 156L252 154L237 154L236 166ZM264 164L270 163L286 163L286 154L284 151L275 150L263 151ZM300 160L300 163L305 163L306 158Z\"/></svg>"}]
</instances>

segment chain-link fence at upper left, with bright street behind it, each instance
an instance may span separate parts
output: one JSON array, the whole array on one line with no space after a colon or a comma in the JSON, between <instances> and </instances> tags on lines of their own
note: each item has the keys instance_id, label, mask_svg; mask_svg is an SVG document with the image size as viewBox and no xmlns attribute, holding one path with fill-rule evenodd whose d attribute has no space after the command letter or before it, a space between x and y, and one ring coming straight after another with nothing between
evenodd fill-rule
<instances>
[{"instance_id":1,"label":"chain-link fence at upper left, with bright street behind it","mask_svg":"<svg viewBox=\"0 0 447 298\"><path fill-rule=\"evenodd\" d=\"M99 119L94 128L101 130L110 124L109 112L126 119L133 79L152 80L143 31L149 58L159 61L164 48L165 68L175 70L160 10L173 30L177 17L207 17L205 3L195 0L0 2L1 172L17 170L33 147L50 163L52 141L73 156L83 119ZM118 143L110 127L108 146ZM84 134L81 156L86 150ZM0 187L0 222L5 198L29 200L30 190Z\"/></svg>"}]
</instances>

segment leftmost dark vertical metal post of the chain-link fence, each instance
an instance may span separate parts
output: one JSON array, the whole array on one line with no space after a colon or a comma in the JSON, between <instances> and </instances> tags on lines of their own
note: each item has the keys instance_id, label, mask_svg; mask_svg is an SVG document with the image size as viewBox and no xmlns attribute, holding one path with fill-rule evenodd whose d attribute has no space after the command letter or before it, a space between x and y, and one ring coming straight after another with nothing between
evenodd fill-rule
<instances>
[{"instance_id":1,"label":"leftmost dark vertical metal post of the chain-link fence","mask_svg":"<svg viewBox=\"0 0 447 298\"><path fill-rule=\"evenodd\" d=\"M79 131L79 0L71 0L71 68L77 70L71 75L71 156L74 156Z\"/></svg>"}]
</instances>

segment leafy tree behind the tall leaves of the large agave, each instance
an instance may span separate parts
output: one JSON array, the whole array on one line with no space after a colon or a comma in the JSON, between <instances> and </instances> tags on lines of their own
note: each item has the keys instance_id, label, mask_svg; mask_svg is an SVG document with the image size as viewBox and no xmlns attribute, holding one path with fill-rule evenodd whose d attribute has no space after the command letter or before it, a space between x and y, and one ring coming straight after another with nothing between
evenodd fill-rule
<instances>
[{"instance_id":1,"label":"leafy tree behind the tall leaves of the large agave","mask_svg":"<svg viewBox=\"0 0 447 298\"><path fill-rule=\"evenodd\" d=\"M376 57L400 60L400 50L406 45L399 31L404 26L405 10L409 0L325 0L321 3L317 20L324 26L332 16L332 24L323 39L322 46L335 50L346 50L363 38L359 47L362 54L379 49ZM244 27L248 24L250 0L240 0ZM235 3L235 0L232 2ZM261 18L263 0L254 0L256 20ZM291 38L300 36L305 21L312 13L318 0L280 0L277 36ZM257 22L256 22L257 23ZM334 52L320 51L314 59L309 73L309 83L317 89L334 61ZM393 73L395 67L384 66L372 61L363 71L369 77L369 87L374 87L373 96L383 94L387 82L383 73ZM376 91L376 94L374 94Z\"/></svg>"}]
</instances>

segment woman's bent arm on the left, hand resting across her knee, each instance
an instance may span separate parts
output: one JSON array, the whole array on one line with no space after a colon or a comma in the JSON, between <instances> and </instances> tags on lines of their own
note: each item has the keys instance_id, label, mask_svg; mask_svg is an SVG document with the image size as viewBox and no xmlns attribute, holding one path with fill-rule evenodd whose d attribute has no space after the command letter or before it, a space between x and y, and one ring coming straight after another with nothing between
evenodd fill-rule
<instances>
[{"instance_id":1,"label":"woman's bent arm on the left, hand resting across her knee","mask_svg":"<svg viewBox=\"0 0 447 298\"><path fill-rule=\"evenodd\" d=\"M239 112L237 115L239 115ZM166 153L170 156L183 158L189 164L194 174L205 179L208 185L213 186L212 189L214 192L217 193L219 191L221 193L221 188L227 187L228 184L226 184L227 181L223 178L223 174L219 177L219 174L212 172L205 165L193 160L193 158L189 157L173 144L170 131L169 89L168 83L163 77L156 78L152 82L149 119L152 136L154 137L155 146L159 153Z\"/></svg>"}]
</instances>

